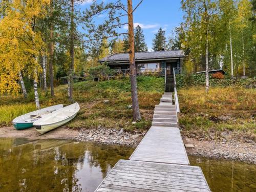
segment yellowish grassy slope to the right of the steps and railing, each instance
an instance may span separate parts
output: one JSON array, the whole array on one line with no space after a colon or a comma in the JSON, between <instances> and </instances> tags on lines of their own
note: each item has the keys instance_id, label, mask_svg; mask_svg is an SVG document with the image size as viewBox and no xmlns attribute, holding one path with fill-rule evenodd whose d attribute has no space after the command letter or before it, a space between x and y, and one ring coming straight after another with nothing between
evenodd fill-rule
<instances>
[{"instance_id":1,"label":"yellowish grassy slope to the right of the steps and railing","mask_svg":"<svg viewBox=\"0 0 256 192\"><path fill-rule=\"evenodd\" d=\"M231 131L236 137L256 138L256 90L239 87L180 89L180 125L187 136L220 137Z\"/></svg>"}]
</instances>

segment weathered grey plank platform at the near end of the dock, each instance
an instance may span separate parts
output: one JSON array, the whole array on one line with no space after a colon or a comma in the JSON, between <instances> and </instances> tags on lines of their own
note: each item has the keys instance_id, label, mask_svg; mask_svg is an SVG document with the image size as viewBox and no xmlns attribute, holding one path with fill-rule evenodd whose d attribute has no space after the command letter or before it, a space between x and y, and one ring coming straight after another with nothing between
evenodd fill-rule
<instances>
[{"instance_id":1,"label":"weathered grey plank platform at the near end of the dock","mask_svg":"<svg viewBox=\"0 0 256 192\"><path fill-rule=\"evenodd\" d=\"M142 168L138 164L143 165ZM129 171L124 165L130 166ZM152 171L150 167L154 167L155 170ZM166 170L172 171L173 169L177 172L177 176L166 172ZM184 170L187 170L188 174ZM195 171L197 175L189 174ZM210 189L200 167L119 160L95 191L209 192Z\"/></svg>"}]
</instances>

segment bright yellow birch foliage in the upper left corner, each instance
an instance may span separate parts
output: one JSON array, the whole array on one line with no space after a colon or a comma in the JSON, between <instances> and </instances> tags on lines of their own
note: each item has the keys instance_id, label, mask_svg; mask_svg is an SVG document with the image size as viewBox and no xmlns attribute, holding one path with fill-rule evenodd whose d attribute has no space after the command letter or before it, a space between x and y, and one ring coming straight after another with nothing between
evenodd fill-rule
<instances>
[{"instance_id":1,"label":"bright yellow birch foliage in the upper left corner","mask_svg":"<svg viewBox=\"0 0 256 192\"><path fill-rule=\"evenodd\" d=\"M40 72L37 57L45 48L36 22L44 18L49 0L13 0L0 20L0 94L18 93L18 73L32 78Z\"/></svg>"}]
</instances>

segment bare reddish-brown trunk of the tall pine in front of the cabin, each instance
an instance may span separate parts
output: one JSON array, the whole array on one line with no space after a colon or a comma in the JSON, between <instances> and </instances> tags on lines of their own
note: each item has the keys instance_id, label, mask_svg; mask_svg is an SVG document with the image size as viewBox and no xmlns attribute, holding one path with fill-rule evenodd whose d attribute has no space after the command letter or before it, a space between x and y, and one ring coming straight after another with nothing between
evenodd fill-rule
<instances>
[{"instance_id":1,"label":"bare reddish-brown trunk of the tall pine in front of the cabin","mask_svg":"<svg viewBox=\"0 0 256 192\"><path fill-rule=\"evenodd\" d=\"M133 104L133 119L140 121L140 109L137 92L136 80L136 66L135 66L135 52L134 52L134 26L133 26L133 2L127 0L128 6L128 26L129 26L129 48L130 48L130 78L131 78L131 91L132 91L132 104Z\"/></svg>"}]
</instances>

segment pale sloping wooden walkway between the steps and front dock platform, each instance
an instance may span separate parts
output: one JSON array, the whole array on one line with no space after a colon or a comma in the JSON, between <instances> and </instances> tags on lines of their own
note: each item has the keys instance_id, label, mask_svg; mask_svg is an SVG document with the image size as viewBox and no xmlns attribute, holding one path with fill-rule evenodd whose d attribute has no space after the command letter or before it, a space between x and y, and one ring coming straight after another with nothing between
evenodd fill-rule
<instances>
[{"instance_id":1,"label":"pale sloping wooden walkway between the steps and front dock platform","mask_svg":"<svg viewBox=\"0 0 256 192\"><path fill-rule=\"evenodd\" d=\"M176 127L152 126L130 160L189 164L180 130Z\"/></svg>"}]
</instances>

